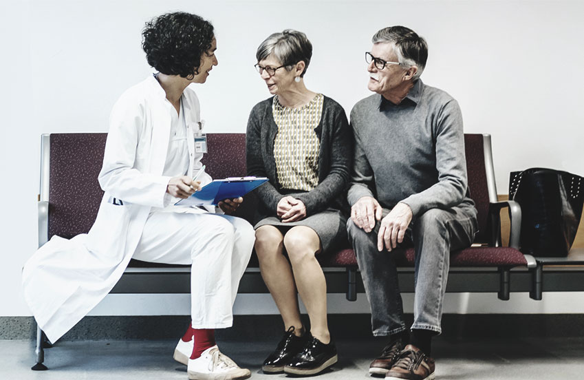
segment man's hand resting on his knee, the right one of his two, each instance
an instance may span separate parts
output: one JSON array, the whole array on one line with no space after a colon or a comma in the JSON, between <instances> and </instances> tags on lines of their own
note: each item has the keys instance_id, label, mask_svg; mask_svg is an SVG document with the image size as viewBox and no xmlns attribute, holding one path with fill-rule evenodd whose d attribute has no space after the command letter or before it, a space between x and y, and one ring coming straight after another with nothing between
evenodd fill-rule
<instances>
[{"instance_id":1,"label":"man's hand resting on his knee, the right one of his two","mask_svg":"<svg viewBox=\"0 0 584 380\"><path fill-rule=\"evenodd\" d=\"M410 207L405 203L398 203L396 207L383 218L379 233L377 234L377 249L387 251L396 248L398 243L404 241L404 235L411 222L413 214Z\"/></svg>"}]
</instances>

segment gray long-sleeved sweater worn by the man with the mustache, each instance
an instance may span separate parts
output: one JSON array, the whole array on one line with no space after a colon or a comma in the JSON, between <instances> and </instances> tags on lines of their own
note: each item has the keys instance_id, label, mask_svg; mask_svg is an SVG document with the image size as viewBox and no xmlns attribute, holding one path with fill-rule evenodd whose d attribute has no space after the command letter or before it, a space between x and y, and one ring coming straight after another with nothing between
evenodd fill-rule
<instances>
[{"instance_id":1,"label":"gray long-sleeved sweater worn by the man with the mustache","mask_svg":"<svg viewBox=\"0 0 584 380\"><path fill-rule=\"evenodd\" d=\"M355 160L349 204L373 196L408 204L415 216L468 198L462 114L446 92L418 80L399 104L374 94L351 112Z\"/></svg>"}]
</instances>

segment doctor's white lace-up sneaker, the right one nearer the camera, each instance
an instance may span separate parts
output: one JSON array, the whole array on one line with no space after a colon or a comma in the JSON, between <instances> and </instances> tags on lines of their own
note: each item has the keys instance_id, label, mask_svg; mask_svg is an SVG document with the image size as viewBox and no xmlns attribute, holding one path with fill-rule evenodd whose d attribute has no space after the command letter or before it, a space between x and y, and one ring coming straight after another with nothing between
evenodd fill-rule
<instances>
[{"instance_id":1,"label":"doctor's white lace-up sneaker, the right one nearer the camera","mask_svg":"<svg viewBox=\"0 0 584 380\"><path fill-rule=\"evenodd\" d=\"M201 357L188 359L186 373L190 380L235 380L252 375L250 370L239 368L235 361L219 352L216 345L204 350Z\"/></svg>"}]
</instances>

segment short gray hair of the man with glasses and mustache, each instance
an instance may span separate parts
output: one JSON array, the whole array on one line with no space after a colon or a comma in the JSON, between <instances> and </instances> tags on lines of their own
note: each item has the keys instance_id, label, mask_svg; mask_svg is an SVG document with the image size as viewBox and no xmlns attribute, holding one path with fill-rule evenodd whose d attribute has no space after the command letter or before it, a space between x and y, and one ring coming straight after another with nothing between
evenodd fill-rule
<instances>
[{"instance_id":1,"label":"short gray hair of the man with glasses and mustache","mask_svg":"<svg viewBox=\"0 0 584 380\"><path fill-rule=\"evenodd\" d=\"M400 65L418 67L414 79L422 75L428 60L428 44L410 28L405 26L383 28L374 34L371 42L393 43L393 51L396 52Z\"/></svg>"}]
</instances>

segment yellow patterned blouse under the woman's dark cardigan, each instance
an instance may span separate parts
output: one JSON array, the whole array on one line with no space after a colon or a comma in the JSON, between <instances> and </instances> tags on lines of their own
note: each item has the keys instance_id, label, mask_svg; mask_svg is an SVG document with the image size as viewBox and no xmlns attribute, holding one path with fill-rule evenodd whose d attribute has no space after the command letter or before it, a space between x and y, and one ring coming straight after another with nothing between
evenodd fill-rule
<instances>
[{"instance_id":1,"label":"yellow patterned blouse under the woman's dark cardigan","mask_svg":"<svg viewBox=\"0 0 584 380\"><path fill-rule=\"evenodd\" d=\"M289 108L274 96L272 114L278 126L274 158L282 189L310 191L318 184L321 142L314 128L321 123L323 99L323 94L316 94L307 105Z\"/></svg>"}]
</instances>

